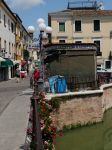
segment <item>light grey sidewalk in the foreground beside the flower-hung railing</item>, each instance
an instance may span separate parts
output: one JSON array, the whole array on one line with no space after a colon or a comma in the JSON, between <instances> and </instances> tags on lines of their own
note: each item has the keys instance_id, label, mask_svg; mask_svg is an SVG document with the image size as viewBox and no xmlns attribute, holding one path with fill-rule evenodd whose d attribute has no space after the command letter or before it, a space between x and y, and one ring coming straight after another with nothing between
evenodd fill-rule
<instances>
[{"instance_id":1,"label":"light grey sidewalk in the foreground beside the flower-hung railing","mask_svg":"<svg viewBox=\"0 0 112 150\"><path fill-rule=\"evenodd\" d=\"M30 96L19 95L0 116L0 149L22 150L30 111Z\"/></svg>"}]
</instances>

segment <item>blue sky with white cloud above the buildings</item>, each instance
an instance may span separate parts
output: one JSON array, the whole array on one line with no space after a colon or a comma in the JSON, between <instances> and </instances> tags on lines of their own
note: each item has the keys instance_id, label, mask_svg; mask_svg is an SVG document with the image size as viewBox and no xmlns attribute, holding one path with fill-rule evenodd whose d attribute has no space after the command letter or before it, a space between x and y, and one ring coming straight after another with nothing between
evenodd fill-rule
<instances>
[{"instance_id":1,"label":"blue sky with white cloud above the buildings","mask_svg":"<svg viewBox=\"0 0 112 150\"><path fill-rule=\"evenodd\" d=\"M37 19L44 18L47 25L49 12L64 10L67 8L68 1L79 0L5 0L11 10L17 13L25 28L32 25L38 31ZM81 1L81 0L80 0ZM87 0L86 0L87 1ZM90 0L91 1L91 0ZM105 9L112 9L112 0L103 1Z\"/></svg>"}]
</instances>

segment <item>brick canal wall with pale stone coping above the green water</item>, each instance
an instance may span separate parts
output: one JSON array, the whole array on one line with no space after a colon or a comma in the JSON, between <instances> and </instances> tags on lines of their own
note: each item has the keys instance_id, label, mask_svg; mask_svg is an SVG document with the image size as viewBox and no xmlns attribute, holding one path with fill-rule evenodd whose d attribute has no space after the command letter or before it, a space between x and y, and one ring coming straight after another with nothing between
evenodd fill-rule
<instances>
[{"instance_id":1,"label":"brick canal wall with pale stone coping above the green water","mask_svg":"<svg viewBox=\"0 0 112 150\"><path fill-rule=\"evenodd\" d=\"M99 90L55 94L50 99L52 97L62 99L59 109L52 114L59 129L64 125L100 122L105 110L112 107L112 84L103 85Z\"/></svg>"}]
</instances>

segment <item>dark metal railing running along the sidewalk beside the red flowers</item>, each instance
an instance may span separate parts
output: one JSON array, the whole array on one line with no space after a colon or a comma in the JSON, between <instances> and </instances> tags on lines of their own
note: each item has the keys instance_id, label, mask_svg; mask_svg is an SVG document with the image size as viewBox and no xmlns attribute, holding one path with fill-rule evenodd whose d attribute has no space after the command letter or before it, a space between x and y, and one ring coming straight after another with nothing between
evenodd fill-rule
<instances>
[{"instance_id":1,"label":"dark metal railing running along the sidewalk beside the red flowers","mask_svg":"<svg viewBox=\"0 0 112 150\"><path fill-rule=\"evenodd\" d=\"M24 150L43 150L43 140L40 127L40 117L39 117L39 97L38 93L41 88L39 88L39 83L34 82L34 93L31 97L31 107L29 115L29 123L27 129L27 135L24 145Z\"/></svg>"}]
</instances>

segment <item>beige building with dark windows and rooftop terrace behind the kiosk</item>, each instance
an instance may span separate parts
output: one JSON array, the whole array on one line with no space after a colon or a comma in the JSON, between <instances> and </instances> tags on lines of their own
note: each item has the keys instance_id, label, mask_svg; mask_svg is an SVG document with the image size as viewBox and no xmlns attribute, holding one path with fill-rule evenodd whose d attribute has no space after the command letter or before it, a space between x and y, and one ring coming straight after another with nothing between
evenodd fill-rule
<instances>
[{"instance_id":1,"label":"beige building with dark windows and rooftop terrace behind the kiosk","mask_svg":"<svg viewBox=\"0 0 112 150\"><path fill-rule=\"evenodd\" d=\"M48 14L52 43L96 43L97 64L112 69L112 10L95 3L91 7L70 7Z\"/></svg>"}]
</instances>

